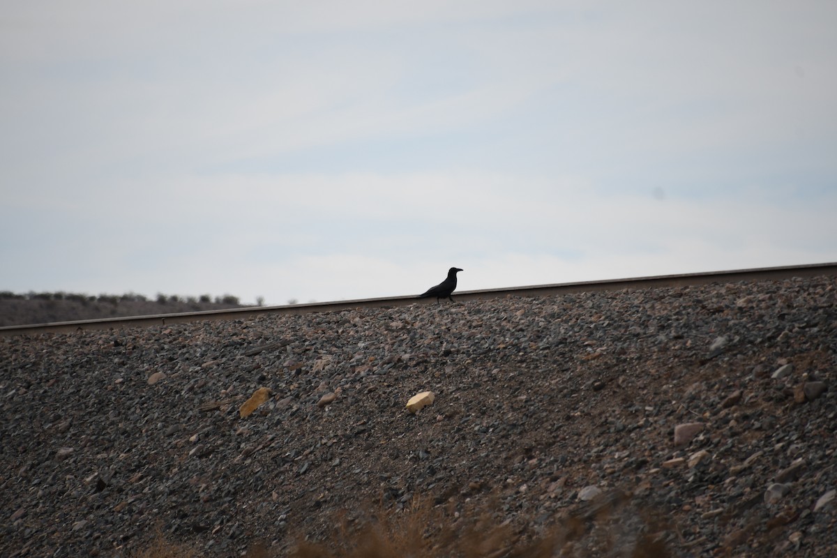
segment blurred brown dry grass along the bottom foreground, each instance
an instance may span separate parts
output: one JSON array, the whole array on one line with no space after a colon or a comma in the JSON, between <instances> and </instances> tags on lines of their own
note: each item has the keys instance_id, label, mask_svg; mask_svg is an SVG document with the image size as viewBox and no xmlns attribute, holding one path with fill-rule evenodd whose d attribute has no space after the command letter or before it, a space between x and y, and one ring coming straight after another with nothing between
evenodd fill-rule
<instances>
[{"instance_id":1,"label":"blurred brown dry grass along the bottom foreground","mask_svg":"<svg viewBox=\"0 0 837 558\"><path fill-rule=\"evenodd\" d=\"M594 515L594 516L593 516ZM569 515L537 535L498 523L489 512L475 520L456 518L450 510L424 504L400 513L384 511L362 518L343 516L327 540L297 538L292 558L549 558L614 556L670 558L665 536L670 532L635 509L602 506L587 517ZM255 543L248 558L280 554ZM159 535L137 558L183 558L191 550L166 545Z\"/></svg>"}]
</instances>

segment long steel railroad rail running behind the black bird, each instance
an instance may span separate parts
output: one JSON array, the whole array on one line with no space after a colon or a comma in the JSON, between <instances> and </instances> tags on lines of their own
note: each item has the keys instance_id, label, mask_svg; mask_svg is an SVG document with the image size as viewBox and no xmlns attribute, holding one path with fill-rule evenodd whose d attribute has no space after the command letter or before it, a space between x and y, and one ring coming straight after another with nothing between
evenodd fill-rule
<instances>
[{"instance_id":1,"label":"long steel railroad rail running behind the black bird","mask_svg":"<svg viewBox=\"0 0 837 558\"><path fill-rule=\"evenodd\" d=\"M582 281L509 287L506 289L465 290L456 293L459 300L494 299L503 296L546 296L549 294L582 293L603 290L653 289L656 287L683 287L709 283L733 283L736 281L759 281L790 279L792 277L837 276L837 263L789 265L774 268L735 269L696 274L659 275L631 279L607 279L604 281ZM416 299L415 295L395 296L384 299L341 300L337 302L315 302L307 305L250 306L232 310L206 310L182 312L179 314L158 314L127 318L105 318L102 320L64 321L50 324L8 325L0 327L0 335L32 335L39 333L71 333L83 330L108 330L125 327L182 324L197 320L236 320L262 314L311 314L313 312L337 312L355 308L376 308L382 306L406 306L413 304L435 304L433 299Z\"/></svg>"}]
</instances>

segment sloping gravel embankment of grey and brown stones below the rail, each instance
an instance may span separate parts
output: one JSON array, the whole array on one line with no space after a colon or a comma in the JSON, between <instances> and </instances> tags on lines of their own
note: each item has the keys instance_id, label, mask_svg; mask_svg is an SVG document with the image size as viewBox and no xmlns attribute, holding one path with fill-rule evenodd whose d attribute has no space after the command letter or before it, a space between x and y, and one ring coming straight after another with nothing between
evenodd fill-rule
<instances>
[{"instance_id":1,"label":"sloping gravel embankment of grey and brown stones below the rail","mask_svg":"<svg viewBox=\"0 0 837 558\"><path fill-rule=\"evenodd\" d=\"M835 382L834 278L3 338L0 555L126 556L156 527L282 555L420 496L523 535L580 517L564 555L641 530L833 558Z\"/></svg>"}]
</instances>

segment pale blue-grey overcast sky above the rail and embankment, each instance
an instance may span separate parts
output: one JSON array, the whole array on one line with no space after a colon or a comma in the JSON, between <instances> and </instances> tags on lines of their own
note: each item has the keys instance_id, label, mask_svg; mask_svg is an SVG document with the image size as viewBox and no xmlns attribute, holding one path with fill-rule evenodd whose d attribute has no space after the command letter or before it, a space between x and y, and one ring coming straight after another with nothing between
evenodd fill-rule
<instances>
[{"instance_id":1,"label":"pale blue-grey overcast sky above the rail and embankment","mask_svg":"<svg viewBox=\"0 0 837 558\"><path fill-rule=\"evenodd\" d=\"M0 290L837 261L837 3L9 0Z\"/></svg>"}]
</instances>

